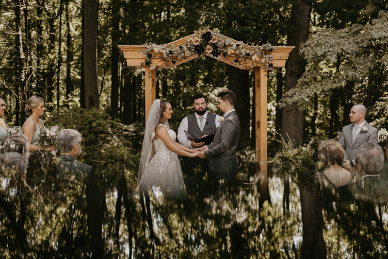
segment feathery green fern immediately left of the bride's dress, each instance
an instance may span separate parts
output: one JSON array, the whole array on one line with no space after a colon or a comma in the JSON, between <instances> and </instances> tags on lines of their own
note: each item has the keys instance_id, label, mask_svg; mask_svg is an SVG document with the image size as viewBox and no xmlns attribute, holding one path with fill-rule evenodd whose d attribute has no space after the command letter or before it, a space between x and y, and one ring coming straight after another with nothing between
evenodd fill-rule
<instances>
[{"instance_id":1,"label":"feathery green fern immediately left of the bride's dress","mask_svg":"<svg viewBox=\"0 0 388 259\"><path fill-rule=\"evenodd\" d=\"M92 160L97 163L97 178L113 186L117 186L122 177L128 181L136 179L141 152L133 155L131 148L126 147L116 136L101 137L106 138L106 143Z\"/></svg>"}]
</instances>

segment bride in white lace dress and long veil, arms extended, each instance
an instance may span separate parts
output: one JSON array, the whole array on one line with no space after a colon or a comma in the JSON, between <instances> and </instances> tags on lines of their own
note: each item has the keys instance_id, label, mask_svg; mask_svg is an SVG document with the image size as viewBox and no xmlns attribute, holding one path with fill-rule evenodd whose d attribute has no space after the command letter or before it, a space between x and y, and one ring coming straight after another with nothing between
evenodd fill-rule
<instances>
[{"instance_id":1,"label":"bride in white lace dress and long veil, arms extended","mask_svg":"<svg viewBox=\"0 0 388 259\"><path fill-rule=\"evenodd\" d=\"M167 121L172 113L171 104L159 99L149 110L135 193L147 194L150 189L159 189L166 196L186 196L178 155L195 157L200 149L189 149L175 142L177 135Z\"/></svg>"}]
</instances>

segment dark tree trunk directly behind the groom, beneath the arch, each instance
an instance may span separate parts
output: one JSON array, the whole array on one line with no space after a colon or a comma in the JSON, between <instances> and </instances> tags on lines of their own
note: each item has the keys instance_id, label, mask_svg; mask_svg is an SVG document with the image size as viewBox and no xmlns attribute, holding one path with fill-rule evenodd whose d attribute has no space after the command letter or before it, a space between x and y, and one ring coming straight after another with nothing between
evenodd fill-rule
<instances>
[{"instance_id":1,"label":"dark tree trunk directly behind the groom, beneath the arch","mask_svg":"<svg viewBox=\"0 0 388 259\"><path fill-rule=\"evenodd\" d=\"M236 96L234 108L239 116L241 134L238 150L243 150L250 143L250 98L249 98L249 70L227 66L228 88Z\"/></svg>"}]
</instances>

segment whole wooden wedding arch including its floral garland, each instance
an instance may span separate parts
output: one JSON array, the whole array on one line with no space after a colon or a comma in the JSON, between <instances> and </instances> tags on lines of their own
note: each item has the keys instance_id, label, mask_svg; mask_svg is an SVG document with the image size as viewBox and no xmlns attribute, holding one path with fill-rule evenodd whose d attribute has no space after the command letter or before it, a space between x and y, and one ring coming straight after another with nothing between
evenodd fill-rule
<instances>
[{"instance_id":1,"label":"whole wooden wedding arch including its floral garland","mask_svg":"<svg viewBox=\"0 0 388 259\"><path fill-rule=\"evenodd\" d=\"M260 173L261 193L267 187L267 71L286 65L295 47L275 47L271 44L249 46L242 41L211 31L209 27L194 31L168 44L119 45L127 65L145 69L146 121L152 102L156 99L156 70L169 69L206 55L239 69L253 69L255 73L256 111L256 171ZM253 129L252 129L253 130Z\"/></svg>"}]
</instances>

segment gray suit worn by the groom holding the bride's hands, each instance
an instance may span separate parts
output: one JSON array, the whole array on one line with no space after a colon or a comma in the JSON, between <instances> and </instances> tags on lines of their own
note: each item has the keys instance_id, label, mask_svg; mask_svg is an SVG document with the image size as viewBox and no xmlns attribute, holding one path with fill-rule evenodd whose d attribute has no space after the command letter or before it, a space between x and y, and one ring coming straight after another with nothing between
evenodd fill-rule
<instances>
[{"instance_id":1,"label":"gray suit worn by the groom holding the bride's hands","mask_svg":"<svg viewBox=\"0 0 388 259\"><path fill-rule=\"evenodd\" d=\"M236 148L240 140L240 120L235 111L230 112L215 132L213 143L205 156L210 160L210 170L217 173L238 173Z\"/></svg>"}]
</instances>

